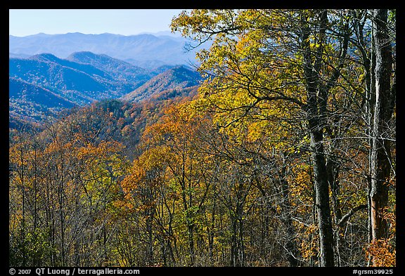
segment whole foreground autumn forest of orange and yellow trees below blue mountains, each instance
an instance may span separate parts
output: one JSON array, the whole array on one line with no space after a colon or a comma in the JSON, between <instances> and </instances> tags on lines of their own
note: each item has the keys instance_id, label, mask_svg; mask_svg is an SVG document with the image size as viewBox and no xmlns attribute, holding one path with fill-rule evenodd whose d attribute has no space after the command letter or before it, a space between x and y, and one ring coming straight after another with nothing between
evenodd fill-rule
<instances>
[{"instance_id":1,"label":"whole foreground autumn forest of orange and yellow trees below blue mountains","mask_svg":"<svg viewBox=\"0 0 405 276\"><path fill-rule=\"evenodd\" d=\"M395 10L184 11L199 86L9 134L12 266L396 266Z\"/></svg>"}]
</instances>

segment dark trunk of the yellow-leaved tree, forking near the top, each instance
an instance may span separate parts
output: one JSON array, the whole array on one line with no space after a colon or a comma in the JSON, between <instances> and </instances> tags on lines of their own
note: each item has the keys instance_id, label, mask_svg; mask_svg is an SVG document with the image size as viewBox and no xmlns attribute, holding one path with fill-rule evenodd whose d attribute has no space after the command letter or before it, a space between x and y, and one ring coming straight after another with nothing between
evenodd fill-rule
<instances>
[{"instance_id":1,"label":"dark trunk of the yellow-leaved tree, forking near the top","mask_svg":"<svg viewBox=\"0 0 405 276\"><path fill-rule=\"evenodd\" d=\"M327 11L319 11L319 41L323 42ZM302 27L302 48L304 58L304 81L307 90L307 122L309 129L311 162L314 169L315 205L318 216L319 227L319 266L334 266L333 254L333 230L330 218L328 173L326 170L325 150L323 148L323 121L325 119L326 92L321 91L319 72L321 70L323 46L319 46L316 53L311 49L309 37L310 28L306 25L307 20L303 18Z\"/></svg>"}]
</instances>

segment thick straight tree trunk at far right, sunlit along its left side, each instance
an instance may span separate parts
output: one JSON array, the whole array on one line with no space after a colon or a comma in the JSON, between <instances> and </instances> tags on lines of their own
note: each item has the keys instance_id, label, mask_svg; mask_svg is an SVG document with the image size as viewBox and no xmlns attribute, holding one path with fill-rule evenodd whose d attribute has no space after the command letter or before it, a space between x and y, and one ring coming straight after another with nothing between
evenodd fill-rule
<instances>
[{"instance_id":1,"label":"thick straight tree trunk at far right, sunlit along its left side","mask_svg":"<svg viewBox=\"0 0 405 276\"><path fill-rule=\"evenodd\" d=\"M382 211L388 202L390 180L390 140L388 121L391 110L392 48L387 29L387 10L373 11L373 39L375 52L375 108L371 152L371 234L372 239L387 237L387 221Z\"/></svg>"}]
</instances>

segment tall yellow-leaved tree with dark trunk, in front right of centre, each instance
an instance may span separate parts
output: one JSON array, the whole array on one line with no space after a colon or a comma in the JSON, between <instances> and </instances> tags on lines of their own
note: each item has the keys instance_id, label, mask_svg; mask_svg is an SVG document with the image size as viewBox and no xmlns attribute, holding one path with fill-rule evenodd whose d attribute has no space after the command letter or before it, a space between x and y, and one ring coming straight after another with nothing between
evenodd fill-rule
<instances>
[{"instance_id":1,"label":"tall yellow-leaved tree with dark trunk, in front right of centre","mask_svg":"<svg viewBox=\"0 0 405 276\"><path fill-rule=\"evenodd\" d=\"M338 24L330 24L333 18ZM333 266L333 229L324 148L328 126L328 98L347 63L350 30L342 12L328 11L192 11L172 22L174 30L205 41L214 38L210 51L202 51L200 70L212 76L202 92L231 93L238 89L245 102L222 108L236 112L234 123L262 104L300 108L307 121L321 258ZM329 31L329 32L327 32ZM203 90L204 89L204 90ZM214 97L211 97L214 98ZM224 107L226 96L214 106ZM239 105L238 105L239 104ZM212 106L212 105L211 105Z\"/></svg>"}]
</instances>

